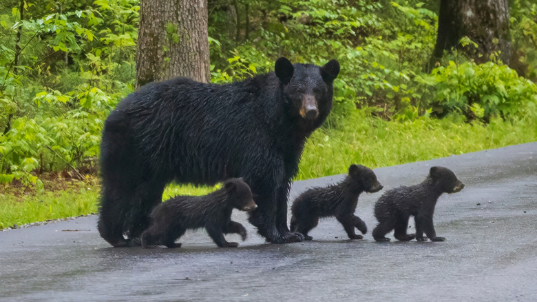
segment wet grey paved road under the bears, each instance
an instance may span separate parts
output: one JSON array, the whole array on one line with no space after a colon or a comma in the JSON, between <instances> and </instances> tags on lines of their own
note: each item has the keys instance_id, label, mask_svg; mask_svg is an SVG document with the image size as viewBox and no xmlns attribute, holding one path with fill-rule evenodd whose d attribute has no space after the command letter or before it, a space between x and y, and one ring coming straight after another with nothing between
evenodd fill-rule
<instances>
[{"instance_id":1,"label":"wet grey paved road under the bears","mask_svg":"<svg viewBox=\"0 0 537 302\"><path fill-rule=\"evenodd\" d=\"M445 242L376 243L370 232L350 241L325 219L313 241L273 245L236 212L249 231L239 248L215 248L203 231L185 234L175 250L110 248L96 217L83 217L0 232L0 300L537 301L537 142L375 173L389 190L421 182L432 165L466 185L436 205ZM291 198L342 177L297 181ZM359 199L369 230L382 192Z\"/></svg>"}]
</instances>

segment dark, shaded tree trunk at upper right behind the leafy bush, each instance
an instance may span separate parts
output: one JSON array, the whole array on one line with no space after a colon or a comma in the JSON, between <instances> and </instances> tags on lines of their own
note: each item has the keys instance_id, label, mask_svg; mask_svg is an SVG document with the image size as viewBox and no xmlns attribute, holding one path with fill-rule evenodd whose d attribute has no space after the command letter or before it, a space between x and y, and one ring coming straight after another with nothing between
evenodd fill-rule
<instances>
[{"instance_id":1,"label":"dark, shaded tree trunk at upper right behind the leafy bush","mask_svg":"<svg viewBox=\"0 0 537 302\"><path fill-rule=\"evenodd\" d=\"M444 50L451 48L464 50L477 63L500 51L502 61L509 64L512 48L507 0L441 0L438 22L432 67ZM462 47L459 41L465 36L477 43L477 48Z\"/></svg>"}]
</instances>

